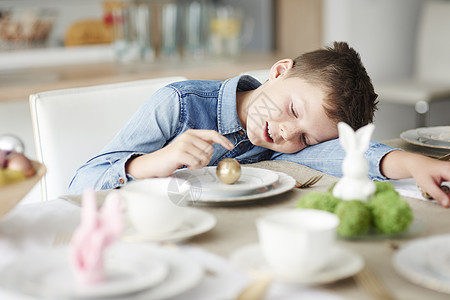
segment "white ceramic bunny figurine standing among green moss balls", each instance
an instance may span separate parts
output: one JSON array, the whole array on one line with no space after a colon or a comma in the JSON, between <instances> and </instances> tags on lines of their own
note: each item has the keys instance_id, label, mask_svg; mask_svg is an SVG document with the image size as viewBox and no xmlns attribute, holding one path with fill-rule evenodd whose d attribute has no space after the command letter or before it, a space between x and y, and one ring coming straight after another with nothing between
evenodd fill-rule
<instances>
[{"instance_id":1,"label":"white ceramic bunny figurine standing among green moss balls","mask_svg":"<svg viewBox=\"0 0 450 300\"><path fill-rule=\"evenodd\" d=\"M334 186L333 196L368 201L375 193L375 184L368 177L369 164L364 157L374 129L373 124L368 124L355 132L346 123L338 124L339 142L346 155L342 163L344 176Z\"/></svg>"}]
</instances>

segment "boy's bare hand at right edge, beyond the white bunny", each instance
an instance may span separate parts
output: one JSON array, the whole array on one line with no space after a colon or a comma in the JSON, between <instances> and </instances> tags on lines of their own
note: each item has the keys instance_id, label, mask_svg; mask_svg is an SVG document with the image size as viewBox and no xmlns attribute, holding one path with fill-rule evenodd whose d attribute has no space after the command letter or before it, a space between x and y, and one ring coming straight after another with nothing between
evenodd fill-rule
<instances>
[{"instance_id":1,"label":"boy's bare hand at right edge, beyond the white bunny","mask_svg":"<svg viewBox=\"0 0 450 300\"><path fill-rule=\"evenodd\" d=\"M450 181L450 161L423 155L392 151L381 162L382 173L391 179L413 177L416 184L444 207L450 207L450 195L440 185Z\"/></svg>"}]
</instances>

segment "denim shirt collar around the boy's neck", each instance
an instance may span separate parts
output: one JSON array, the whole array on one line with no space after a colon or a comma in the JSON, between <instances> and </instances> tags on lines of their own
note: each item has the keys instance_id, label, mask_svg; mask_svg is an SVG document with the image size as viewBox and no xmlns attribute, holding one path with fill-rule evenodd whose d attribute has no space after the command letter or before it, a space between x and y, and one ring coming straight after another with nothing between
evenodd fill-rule
<instances>
[{"instance_id":1,"label":"denim shirt collar around the boy's neck","mask_svg":"<svg viewBox=\"0 0 450 300\"><path fill-rule=\"evenodd\" d=\"M249 75L236 76L223 82L217 99L217 127L220 134L244 130L237 114L236 93L238 90L254 90L260 85L258 80Z\"/></svg>"}]
</instances>

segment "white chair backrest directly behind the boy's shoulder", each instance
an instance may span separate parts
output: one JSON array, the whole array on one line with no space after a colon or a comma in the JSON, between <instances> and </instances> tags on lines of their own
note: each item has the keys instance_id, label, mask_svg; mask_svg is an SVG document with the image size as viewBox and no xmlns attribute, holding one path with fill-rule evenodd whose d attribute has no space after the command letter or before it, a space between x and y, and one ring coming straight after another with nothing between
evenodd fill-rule
<instances>
[{"instance_id":1,"label":"white chair backrest directly behind the boy's shoulder","mask_svg":"<svg viewBox=\"0 0 450 300\"><path fill-rule=\"evenodd\" d=\"M167 77L30 95L37 159L47 167L42 200L67 194L75 171L98 153Z\"/></svg>"}]
</instances>

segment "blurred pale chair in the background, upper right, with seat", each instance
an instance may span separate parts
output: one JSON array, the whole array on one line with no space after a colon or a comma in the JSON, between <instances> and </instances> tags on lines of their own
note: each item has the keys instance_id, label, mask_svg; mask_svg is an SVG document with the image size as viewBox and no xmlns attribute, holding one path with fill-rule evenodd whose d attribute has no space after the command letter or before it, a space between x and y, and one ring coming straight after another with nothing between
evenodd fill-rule
<instances>
[{"instance_id":1,"label":"blurred pale chair in the background, upper right, with seat","mask_svg":"<svg viewBox=\"0 0 450 300\"><path fill-rule=\"evenodd\" d=\"M380 104L415 108L417 127L427 123L430 105L450 100L450 2L425 1L416 39L414 75L392 82L375 82Z\"/></svg>"}]
</instances>

